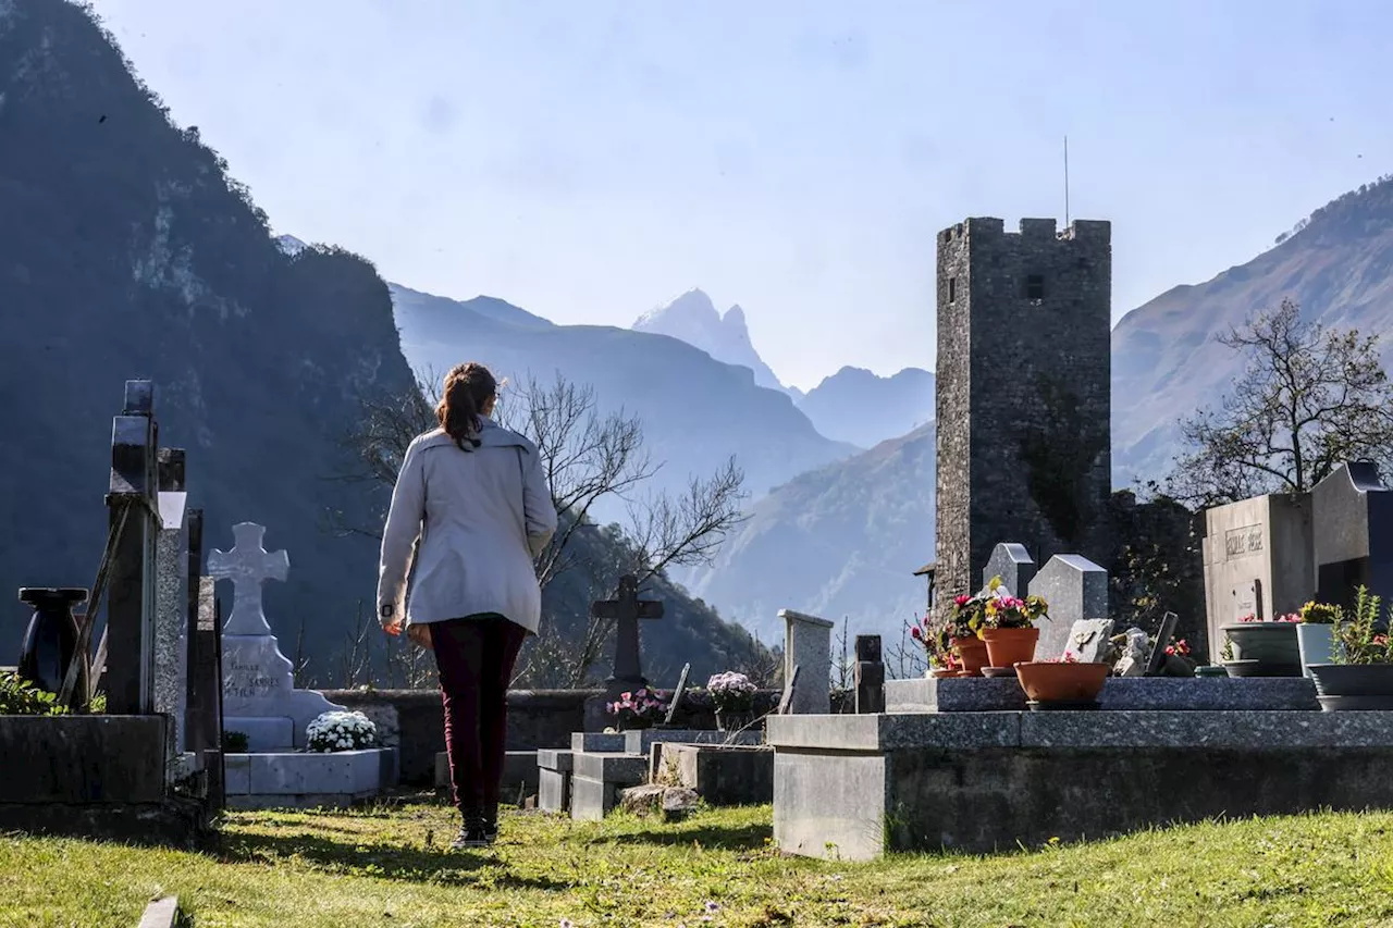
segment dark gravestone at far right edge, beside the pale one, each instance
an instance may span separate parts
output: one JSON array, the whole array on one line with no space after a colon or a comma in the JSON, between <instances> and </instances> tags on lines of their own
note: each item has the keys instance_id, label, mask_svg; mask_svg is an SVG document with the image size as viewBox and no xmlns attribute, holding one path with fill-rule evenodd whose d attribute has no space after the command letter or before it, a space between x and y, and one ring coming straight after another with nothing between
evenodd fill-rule
<instances>
[{"instance_id":1,"label":"dark gravestone at far right edge, beside the pale one","mask_svg":"<svg viewBox=\"0 0 1393 928\"><path fill-rule=\"evenodd\" d=\"M1368 587L1393 603L1393 490L1367 461L1341 464L1311 490L1316 587L1350 608Z\"/></svg>"}]
</instances>

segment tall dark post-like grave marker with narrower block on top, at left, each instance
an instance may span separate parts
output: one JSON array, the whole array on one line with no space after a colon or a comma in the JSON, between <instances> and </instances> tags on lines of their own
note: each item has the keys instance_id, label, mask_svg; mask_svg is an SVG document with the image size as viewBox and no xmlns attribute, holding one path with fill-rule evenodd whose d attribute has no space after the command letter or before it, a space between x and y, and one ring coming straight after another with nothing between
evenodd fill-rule
<instances>
[{"instance_id":1,"label":"tall dark post-like grave marker with narrower block on top, at left","mask_svg":"<svg viewBox=\"0 0 1393 928\"><path fill-rule=\"evenodd\" d=\"M106 599L104 679L107 712L145 715L153 709L155 542L159 497L155 386L125 382L125 405L111 421L111 481L106 496L116 524L130 507L117 543ZM93 612L96 605L92 606ZM102 649L99 648L99 656Z\"/></svg>"}]
</instances>

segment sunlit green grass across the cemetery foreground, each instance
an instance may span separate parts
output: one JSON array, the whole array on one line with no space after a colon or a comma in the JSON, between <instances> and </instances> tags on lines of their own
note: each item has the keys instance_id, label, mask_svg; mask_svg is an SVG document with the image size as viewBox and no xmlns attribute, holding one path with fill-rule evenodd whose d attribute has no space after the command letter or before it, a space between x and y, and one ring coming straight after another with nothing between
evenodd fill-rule
<instances>
[{"instance_id":1,"label":"sunlit green grass across the cemetery foreground","mask_svg":"<svg viewBox=\"0 0 1393 928\"><path fill-rule=\"evenodd\" d=\"M781 857L770 811L680 825L515 814L443 849L453 814L228 815L202 854L0 837L0 925L131 928L178 893L198 928L251 925L1393 925L1393 815L1206 823L993 857ZM703 921L709 918L709 921Z\"/></svg>"}]
</instances>

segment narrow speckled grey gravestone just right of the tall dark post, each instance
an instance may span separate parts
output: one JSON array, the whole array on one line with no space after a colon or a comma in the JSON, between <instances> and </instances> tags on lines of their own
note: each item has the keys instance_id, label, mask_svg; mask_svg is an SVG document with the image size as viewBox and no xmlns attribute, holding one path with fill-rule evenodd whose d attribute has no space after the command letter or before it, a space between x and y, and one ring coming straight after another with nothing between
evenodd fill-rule
<instances>
[{"instance_id":1,"label":"narrow speckled grey gravestone just right of the tall dark post","mask_svg":"<svg viewBox=\"0 0 1393 928\"><path fill-rule=\"evenodd\" d=\"M170 719L170 755L185 750L188 706L188 493L182 449L160 449L155 545L155 711Z\"/></svg>"}]
</instances>

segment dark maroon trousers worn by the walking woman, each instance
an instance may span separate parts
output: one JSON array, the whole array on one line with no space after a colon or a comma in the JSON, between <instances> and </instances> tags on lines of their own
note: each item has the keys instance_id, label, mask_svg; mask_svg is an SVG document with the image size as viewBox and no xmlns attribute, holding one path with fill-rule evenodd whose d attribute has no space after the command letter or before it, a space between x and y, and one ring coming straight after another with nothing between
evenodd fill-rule
<instances>
[{"instance_id":1,"label":"dark maroon trousers worn by the walking woman","mask_svg":"<svg viewBox=\"0 0 1393 928\"><path fill-rule=\"evenodd\" d=\"M440 670L444 747L454 805L465 818L497 821L507 755L507 693L527 630L503 616L430 624Z\"/></svg>"}]
</instances>

